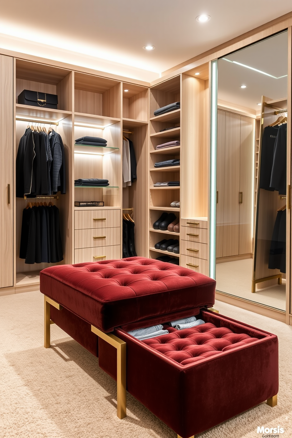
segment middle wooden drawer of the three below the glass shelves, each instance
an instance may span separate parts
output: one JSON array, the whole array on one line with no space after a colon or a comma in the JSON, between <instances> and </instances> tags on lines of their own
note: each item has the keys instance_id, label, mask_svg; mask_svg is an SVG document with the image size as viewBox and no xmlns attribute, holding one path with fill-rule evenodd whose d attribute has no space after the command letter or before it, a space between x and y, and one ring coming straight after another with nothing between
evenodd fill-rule
<instances>
[{"instance_id":1,"label":"middle wooden drawer of the three below the glass shelves","mask_svg":"<svg viewBox=\"0 0 292 438\"><path fill-rule=\"evenodd\" d=\"M120 245L121 229L115 228L89 228L88 230L75 230L74 247L92 248L100 246Z\"/></svg>"}]
</instances>

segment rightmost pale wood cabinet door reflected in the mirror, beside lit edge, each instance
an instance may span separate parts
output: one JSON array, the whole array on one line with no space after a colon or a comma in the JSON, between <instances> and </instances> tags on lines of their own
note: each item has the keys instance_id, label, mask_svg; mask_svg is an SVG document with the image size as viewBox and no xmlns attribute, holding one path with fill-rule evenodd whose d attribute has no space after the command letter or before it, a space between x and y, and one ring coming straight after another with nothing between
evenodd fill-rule
<instances>
[{"instance_id":1,"label":"rightmost pale wood cabinet door reflected in the mirror, beside lit edge","mask_svg":"<svg viewBox=\"0 0 292 438\"><path fill-rule=\"evenodd\" d=\"M239 254L253 252L253 160L254 120L241 116L239 192Z\"/></svg>"}]
</instances>

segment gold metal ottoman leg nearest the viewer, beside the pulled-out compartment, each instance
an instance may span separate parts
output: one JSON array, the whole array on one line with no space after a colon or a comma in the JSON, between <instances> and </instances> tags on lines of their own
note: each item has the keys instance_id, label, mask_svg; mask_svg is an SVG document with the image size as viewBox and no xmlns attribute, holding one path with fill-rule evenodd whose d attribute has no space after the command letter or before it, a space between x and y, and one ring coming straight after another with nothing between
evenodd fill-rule
<instances>
[{"instance_id":1,"label":"gold metal ottoman leg nearest the viewer, beside the pulled-out compartment","mask_svg":"<svg viewBox=\"0 0 292 438\"><path fill-rule=\"evenodd\" d=\"M112 333L104 333L91 325L91 332L116 348L116 402L117 416L127 417L126 400L126 343Z\"/></svg>"}]
</instances>

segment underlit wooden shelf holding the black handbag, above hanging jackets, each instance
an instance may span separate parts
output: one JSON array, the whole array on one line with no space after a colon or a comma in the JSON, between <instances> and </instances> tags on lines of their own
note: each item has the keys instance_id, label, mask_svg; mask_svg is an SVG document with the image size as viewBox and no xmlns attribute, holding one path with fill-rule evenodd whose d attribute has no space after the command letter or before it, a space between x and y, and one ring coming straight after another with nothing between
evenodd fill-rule
<instances>
[{"instance_id":1,"label":"underlit wooden shelf holding the black handbag, above hanging jackets","mask_svg":"<svg viewBox=\"0 0 292 438\"><path fill-rule=\"evenodd\" d=\"M72 111L49 109L42 106L21 105L20 103L16 104L16 118L25 118L31 122L33 122L34 119L37 119L36 121L43 120L42 123L49 123L50 120L57 122L71 115Z\"/></svg>"}]
</instances>

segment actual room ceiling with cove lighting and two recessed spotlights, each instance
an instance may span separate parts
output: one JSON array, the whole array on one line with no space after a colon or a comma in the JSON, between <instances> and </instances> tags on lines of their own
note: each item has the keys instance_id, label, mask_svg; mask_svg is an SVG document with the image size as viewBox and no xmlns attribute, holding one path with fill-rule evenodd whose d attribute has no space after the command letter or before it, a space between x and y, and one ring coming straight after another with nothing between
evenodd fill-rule
<instances>
[{"instance_id":1,"label":"actual room ceiling with cove lighting and two recessed spotlights","mask_svg":"<svg viewBox=\"0 0 292 438\"><path fill-rule=\"evenodd\" d=\"M1 2L0 47L119 74L126 65L153 80L291 10L291 0L10 0Z\"/></svg>"}]
</instances>

